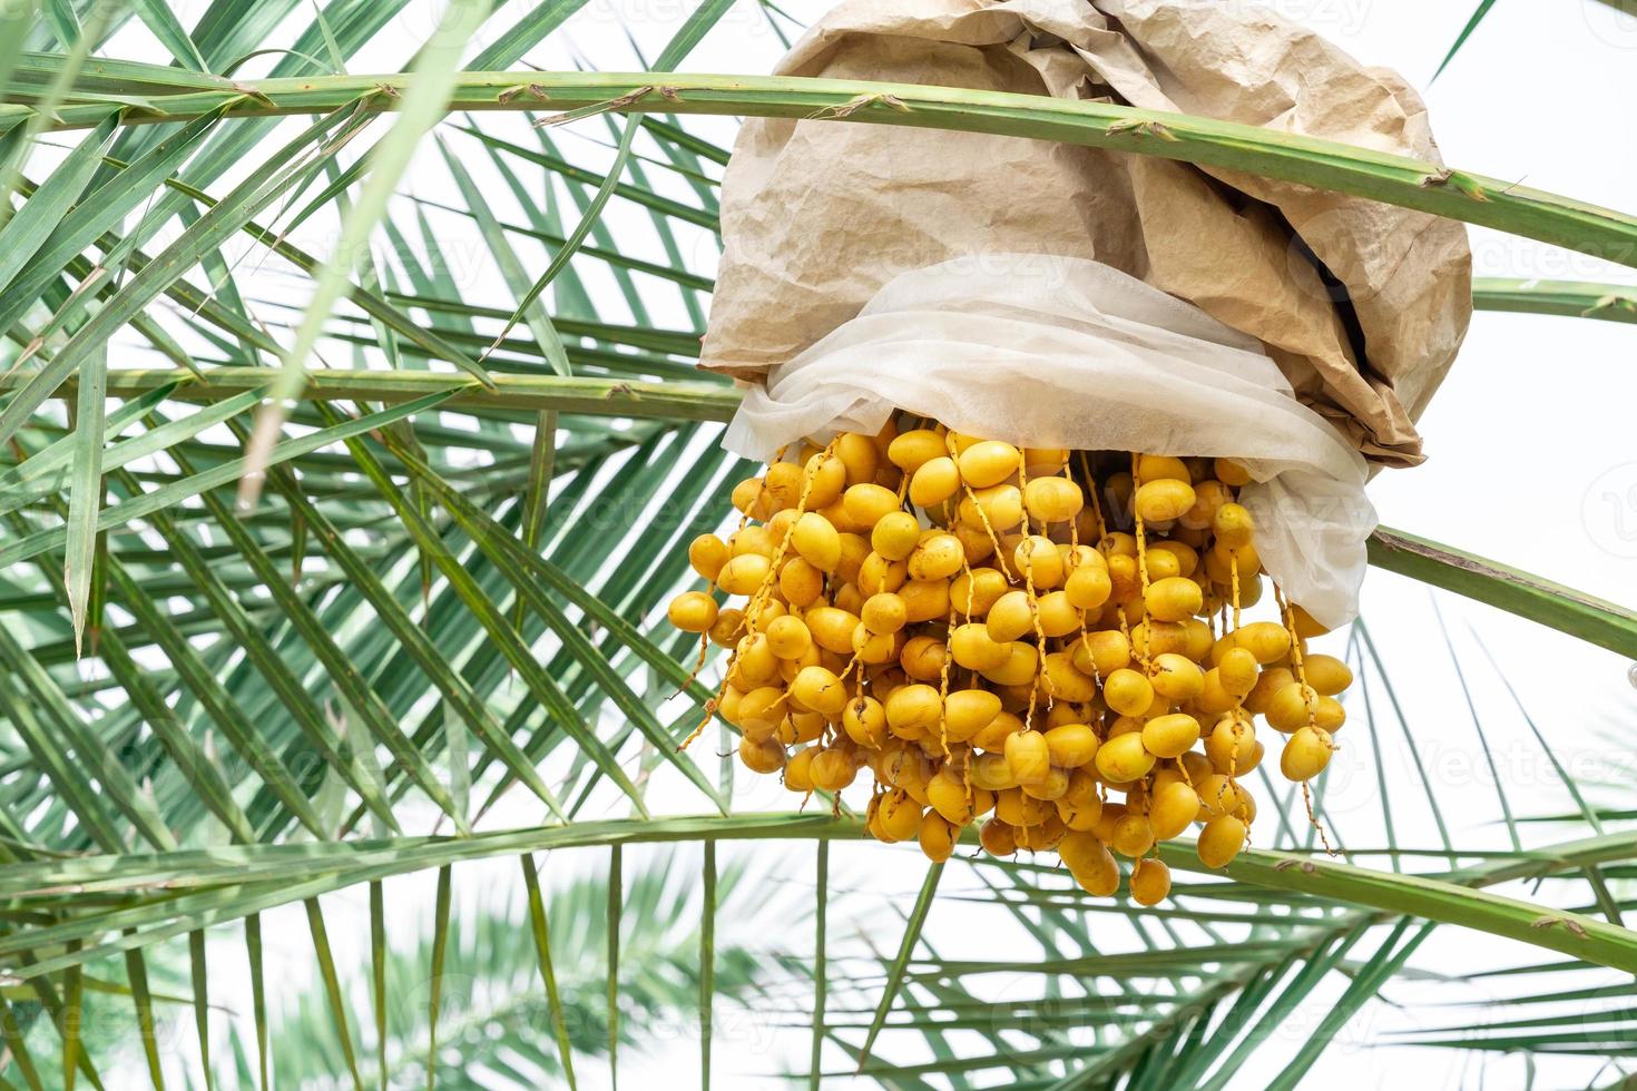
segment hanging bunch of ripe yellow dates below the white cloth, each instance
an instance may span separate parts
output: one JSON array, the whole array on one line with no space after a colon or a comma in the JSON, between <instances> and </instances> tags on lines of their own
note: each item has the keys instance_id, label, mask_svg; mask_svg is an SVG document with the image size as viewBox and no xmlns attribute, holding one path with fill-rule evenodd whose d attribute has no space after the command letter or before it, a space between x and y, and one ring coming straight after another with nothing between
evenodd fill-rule
<instances>
[{"instance_id":1,"label":"hanging bunch of ripe yellow dates below the white cloth","mask_svg":"<svg viewBox=\"0 0 1637 1091\"><path fill-rule=\"evenodd\" d=\"M786 451L689 559L670 620L732 651L710 712L794 792L868 769L868 829L933 860L981 823L997 855L1054 849L1094 895L1170 891L1157 844L1198 824L1223 867L1278 739L1316 777L1347 666L1269 584L1228 460L1020 448L900 417ZM722 592L743 604L720 607ZM1265 723L1274 734L1260 733ZM1311 816L1311 808L1310 808Z\"/></svg>"}]
</instances>

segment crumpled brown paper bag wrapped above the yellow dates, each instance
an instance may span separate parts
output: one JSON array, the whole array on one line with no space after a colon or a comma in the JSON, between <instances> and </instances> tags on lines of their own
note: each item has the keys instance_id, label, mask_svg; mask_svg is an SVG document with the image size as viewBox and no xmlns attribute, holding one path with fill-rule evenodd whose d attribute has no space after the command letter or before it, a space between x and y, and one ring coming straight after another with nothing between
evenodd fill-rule
<instances>
[{"instance_id":1,"label":"crumpled brown paper bag wrapped above the yellow dates","mask_svg":"<svg viewBox=\"0 0 1637 1091\"><path fill-rule=\"evenodd\" d=\"M778 74L1105 98L1439 162L1400 77L1215 0L846 0ZM1423 460L1413 422L1472 312L1462 224L1238 172L940 129L751 118L722 190L722 237L712 371L755 379L907 270L1094 258L1260 339L1298 397L1378 465Z\"/></svg>"}]
</instances>

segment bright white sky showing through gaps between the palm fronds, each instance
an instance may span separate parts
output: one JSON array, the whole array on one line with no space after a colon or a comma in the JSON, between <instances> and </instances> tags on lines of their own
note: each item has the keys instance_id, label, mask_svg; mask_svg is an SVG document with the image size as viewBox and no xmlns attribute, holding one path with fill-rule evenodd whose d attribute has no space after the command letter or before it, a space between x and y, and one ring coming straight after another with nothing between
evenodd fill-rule
<instances>
[{"instance_id":1,"label":"bright white sky showing through gaps between the palm fronds","mask_svg":"<svg viewBox=\"0 0 1637 1091\"><path fill-rule=\"evenodd\" d=\"M532 2L532 0L527 0ZM1473 0L1475 2L1475 0ZM183 21L192 23L203 10L201 0L175 3ZM393 70L399 67L429 28L435 23L439 3L427 3L401 16L349 67L352 72ZM522 3L509 5L521 10ZM652 61L679 25L691 3L683 0L593 0L591 7L570 23L568 41L601 69L635 67L624 38L624 25ZM825 5L792 2L792 15L810 20ZM1562 5L1499 3L1485 26L1465 46L1462 56L1431 87L1437 62L1462 23L1472 2L1427 5L1413 0L1280 0L1272 5L1280 13L1306 23L1342 44L1369 64L1388 65L1405 74L1427 97L1434 131L1445 160L1478 173L1517 180L1529 186L1573 195L1614 208L1637 208L1630 180L1637 177L1637 116L1624 108L1637 100L1637 20L1619 16L1608 8L1580 0ZM496 26L507 25L504 16ZM138 33L138 38L141 34ZM561 38L561 36L560 36ZM138 56L118 49L120 56ZM766 72L781 46L766 29L748 0L727 16L715 33L689 57L684 69L694 72ZM571 56L565 44L540 49L530 56L540 67L568 67ZM488 124L488 123L486 123ZM498 123L496 123L498 124ZM719 142L730 139L728 119L689 119L689 128L712 134ZM606 139L601 123L583 123L578 132ZM517 134L522 132L521 123ZM450 137L455 139L455 137ZM565 147L586 147L575 137L560 137ZM473 172L481 168L467 159ZM581 157L586 165L606 162L602 152ZM431 200L458 203L435 150L427 149L426 168L411 172L408 190ZM496 190L498 191L498 190ZM496 208L507 216L504 201ZM609 222L622 237L642 237L645 213L611 206ZM440 240L457 257L470 258L463 273L475 285L473 296L493 286L493 299L506 299L504 285L486 260L486 249L470 226L439 221ZM449 231L447 236L442 231ZM321 249L313 237L295 242ZM652 234L652 232L650 232ZM688 239L689 258L699 272L712 272L714 244L704 232ZM1552 280L1608 280L1637 283L1637 273L1593 258L1565 254L1529 240L1513 239L1481 229L1473 231L1473 247L1480 275L1540 276ZM529 250L524 250L525 257ZM642 257L663 260L658 245L640 250ZM285 276L273 263L254 276L244 263L241 288L249 296L290 296L301 281ZM594 290L609 299L609 314L619 316L622 304L612 285L588 275ZM304 291L304 290L301 290ZM656 293L658 294L658 293ZM301 301L295 294L295 301ZM660 324L681 327L686 316L656 312ZM614 319L619 321L619 319ZM1496 561L1537 572L1586 592L1621 604L1637 602L1637 442L1634 442L1632 407L1637 406L1637 368L1632 366L1637 332L1612 322L1558 317L1478 314L1454 373L1421 422L1429 461L1416 469L1383 473L1372 486L1372 497L1383 523L1467 548ZM340 363L340 360L337 360ZM1504 829L1495 823L1499 815L1495 788L1486 780L1483 756L1477 746L1472 718L1459 682L1450 669L1449 653L1439 635L1432 612L1434 597L1419 584L1387 572L1372 571L1365 587L1364 615L1405 702L1416 751L1423 756L1439 792L1452 836L1463 846L1504 846ZM1516 685L1519 697L1550 739L1558 759L1572 772L1585 777L1617 779L1621 792L1601 792L1604 801L1626 800L1637 777L1630 744L1637 695L1627 682L1629 662L1558 636L1540 626L1511 618L1486 607L1452 595L1437 595L1437 608L1447 623L1457 653L1468 671L1478 712L1490 738L1506 795L1519 815L1557 813L1568 808L1568 798L1555 783L1555 774L1540 756L1527 725L1517 716L1506 690L1496 682L1483 651L1481 635L1499 669ZM1341 640L1329 648L1341 654ZM1352 708L1357 716L1357 708ZM1352 743L1337 757L1331 775L1331 811L1351 833L1352 846L1382 844L1373 821L1380 808L1375 762L1364 746L1362 726L1347 733ZM1383 731L1383 762L1388 795L1395 801L1400 841L1434 846L1436 829L1424 803L1409 752L1390 725ZM665 779L656 779L665 800ZM697 810L697 801L676 792L679 810ZM496 826L537 821L534 808L521 800L514 811L499 813ZM738 800L745 810L786 806L789 797L776 787L748 787ZM663 803L660 803L663 808ZM1270 805L1264 805L1270 806ZM504 811L504 808L503 808ZM1267 815L1267 810L1264 810ZM1270 818L1269 818L1270 824ZM1259 824L1260 831L1260 824ZM1373 831L1373 833L1372 833ZM1526 831L1529 836L1529 831ZM1536 834L1542 842L1550 839ZM897 903L907 909L920 885L922 867L905 849L884 851L866 846L838 846L833 851L833 883L840 890L899 891ZM724 849L724 860L728 851ZM558 869L584 870L601 867L604 855L566 857L552 862ZM637 865L640 854L627 855L627 867ZM689 857L692 859L692 857ZM769 869L769 890L781 898L800 895L810 883L810 851L787 852L784 846L758 854L760 867ZM1385 862L1383 862L1385 865ZM1431 867L1431 864L1429 864ZM561 873L561 872L555 872ZM553 872L547 870L547 875ZM457 926L460 906L478 898L494 898L498 890L514 883L511 860L463 865L457 870ZM411 936L429 916L432 873L417 875L391 887L395 934ZM966 869L951 869L946 891L969 891L976 882ZM1506 891L1529 896L1527 890ZM1552 888L1539 891L1550 900ZM331 939L340 965L362 965L367 957L367 916L363 890L326 898ZM787 900L787 898L784 898ZM745 927L781 927L755 914L735 918ZM787 919L787 916L786 916ZM874 942L892 949L899 936L894 914L871 898L835 903L832 934L845 936L863 919ZM928 926L928 937L941 954L971 950L974 929L999 919L969 905L949 900L940 903ZM733 927L724 919L719 936ZM809 924L778 945L805 949ZM223 929L229 932L232 929ZM311 977L311 945L300 908L268 914L268 954L273 981L295 986ZM408 942L408 941L406 941ZM519 944L527 936L519 931ZM838 942L841 942L838 939ZM214 954L219 947L219 954ZM1369 947L1360 947L1369 950ZM1542 960L1544 952L1509 945L1488 936L1445 927L1436 932L1411 967L1462 975L1472 968ZM999 931L984 942L984 955L1028 962L1038 957L1031 941L1017 931ZM213 947L213 970L219 978L226 1003L247 1011L242 973L242 949L237 939L224 937ZM1606 978L1598 978L1606 980ZM1544 981L1537 981L1545 988ZM1563 981L1555 981L1562 985ZM1581 981L1575 981L1581 983ZM1003 983L999 985L1003 988ZM1311 1017L1298 1016L1275 1034L1252 1065L1239 1073L1234 1088L1262 1088L1300 1045L1306 1030L1339 994L1342 983L1321 986L1308 1001ZM1478 998L1486 985L1473 986L1395 983L1390 998L1413 1004L1429 999ZM236 994L237 993L237 994ZM360 1006L354 1026L365 1019ZM1496 1016L1504 1017L1504 1016ZM1442 1016L1439 1016L1442 1019ZM805 1065L804 1030L773 1034L763 1024L728 1029L725 1012L719 1016L715 1048L717 1084L724 1088L769 1086L768 1073ZM1341 1035L1310 1075L1311 1086L1385 1088L1385 1086L1477 1086L1478 1062L1459 1053L1414 1050L1387 1045L1395 1030L1413 1026L1408 1016L1388 1004L1367 1008ZM192 1052L192 1026L177 1039L177 1057ZM909 1050L892 1052L895 1042L884 1039L882 1050L895 1058L913 1060ZM828 1058L840 1066L840 1055ZM1598 1070L1598 1062L1563 1062L1554 1083L1581 1086ZM134 1070L133 1070L134 1071ZM622 1076L627 1086L692 1086L697 1071L697 1042L686 1032L665 1035L652 1044L647 1058L624 1057ZM1611 1080L1604 1073L1603 1080ZM599 1086L593 1071L581 1073L581 1086ZM1490 1058L1486 1086L1521 1086L1521 1062ZM825 1086L845 1088L846 1080Z\"/></svg>"}]
</instances>

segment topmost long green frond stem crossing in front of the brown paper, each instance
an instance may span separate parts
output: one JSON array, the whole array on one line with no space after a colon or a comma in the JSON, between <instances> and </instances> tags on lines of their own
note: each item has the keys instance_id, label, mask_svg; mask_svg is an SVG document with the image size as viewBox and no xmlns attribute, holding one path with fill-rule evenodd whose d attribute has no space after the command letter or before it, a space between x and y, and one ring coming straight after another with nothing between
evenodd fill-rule
<instances>
[{"instance_id":1,"label":"topmost long green frond stem crossing in front of the brown paper","mask_svg":"<svg viewBox=\"0 0 1637 1091\"><path fill-rule=\"evenodd\" d=\"M246 80L152 95L124 124L172 123L226 106L228 116L321 114L362 101L391 111L406 75ZM82 97L83 98L83 97ZM462 72L449 111L575 111L846 119L868 124L989 132L1157 155L1351 193L1388 204L1539 239L1637 265L1637 218L1501 178L1257 126L1112 103L918 83L653 72ZM34 110L0 106L0 131ZM87 128L106 101L57 110L47 128Z\"/></svg>"}]
</instances>

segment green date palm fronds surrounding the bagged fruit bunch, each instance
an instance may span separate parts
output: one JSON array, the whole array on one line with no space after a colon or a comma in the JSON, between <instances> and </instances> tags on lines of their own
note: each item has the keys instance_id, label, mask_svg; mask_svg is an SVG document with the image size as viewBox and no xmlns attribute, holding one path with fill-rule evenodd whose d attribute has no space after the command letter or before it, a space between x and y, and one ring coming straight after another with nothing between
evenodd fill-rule
<instances>
[{"instance_id":1,"label":"green date palm fronds surrounding the bagged fruit bunch","mask_svg":"<svg viewBox=\"0 0 1637 1091\"><path fill-rule=\"evenodd\" d=\"M691 366L733 116L1162 155L1624 265L1637 218L1208 118L678 74L732 0L624 74L529 62L586 0L178 7L0 8L0 1088L601 1086L681 1006L684 1086L737 1011L800 1045L735 1070L809 1086L1218 1088L1297 1034L1259 1078L1293 1088L1388 988L1426 1004L1400 1044L1626 1080L1629 782L1529 720L1565 810L1501 788L1506 846L1457 841L1364 623L1369 819L1226 873L1167 849L1190 875L1139 911L864 846L737 777L725 725L684 751L709 694L660 622L748 471ZM1475 303L1637 321L1612 285ZM1370 559L1637 653L1637 613L1537 576L1400 530ZM1391 821L1421 800L1437 844ZM1411 963L1445 936L1537 960L1480 998Z\"/></svg>"}]
</instances>

